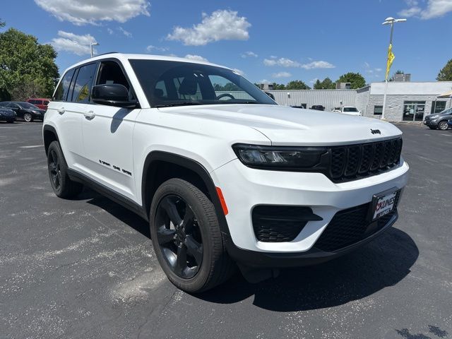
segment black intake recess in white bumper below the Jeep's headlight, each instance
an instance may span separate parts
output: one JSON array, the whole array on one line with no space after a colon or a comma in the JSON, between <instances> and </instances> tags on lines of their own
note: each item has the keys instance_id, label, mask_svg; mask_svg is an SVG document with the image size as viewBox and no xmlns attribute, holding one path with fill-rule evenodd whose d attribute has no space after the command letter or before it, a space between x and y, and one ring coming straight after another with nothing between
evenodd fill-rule
<instances>
[{"instance_id":1,"label":"black intake recess in white bumper below the Jeep's headlight","mask_svg":"<svg viewBox=\"0 0 452 339\"><path fill-rule=\"evenodd\" d=\"M253 228L259 242L291 242L310 220L322 220L304 206L267 206L253 208Z\"/></svg>"}]
</instances>

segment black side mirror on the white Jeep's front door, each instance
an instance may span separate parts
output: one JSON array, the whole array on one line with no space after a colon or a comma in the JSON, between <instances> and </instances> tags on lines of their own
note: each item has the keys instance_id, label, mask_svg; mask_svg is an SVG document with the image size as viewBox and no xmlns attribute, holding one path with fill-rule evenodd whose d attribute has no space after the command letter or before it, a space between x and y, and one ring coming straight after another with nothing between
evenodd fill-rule
<instances>
[{"instance_id":1,"label":"black side mirror on the white Jeep's front door","mask_svg":"<svg viewBox=\"0 0 452 339\"><path fill-rule=\"evenodd\" d=\"M119 83L96 85L91 92L91 100L99 105L135 108L138 101L129 100L129 90Z\"/></svg>"}]
</instances>

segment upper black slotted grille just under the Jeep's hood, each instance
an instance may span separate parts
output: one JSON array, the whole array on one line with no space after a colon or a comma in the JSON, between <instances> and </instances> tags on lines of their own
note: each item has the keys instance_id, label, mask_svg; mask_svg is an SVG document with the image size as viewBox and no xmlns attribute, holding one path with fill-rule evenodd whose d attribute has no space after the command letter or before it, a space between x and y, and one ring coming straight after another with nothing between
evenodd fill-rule
<instances>
[{"instance_id":1,"label":"upper black slotted grille just under the Jeep's hood","mask_svg":"<svg viewBox=\"0 0 452 339\"><path fill-rule=\"evenodd\" d=\"M347 182L386 172L399 164L401 152L402 138L332 147L329 177Z\"/></svg>"}]
</instances>

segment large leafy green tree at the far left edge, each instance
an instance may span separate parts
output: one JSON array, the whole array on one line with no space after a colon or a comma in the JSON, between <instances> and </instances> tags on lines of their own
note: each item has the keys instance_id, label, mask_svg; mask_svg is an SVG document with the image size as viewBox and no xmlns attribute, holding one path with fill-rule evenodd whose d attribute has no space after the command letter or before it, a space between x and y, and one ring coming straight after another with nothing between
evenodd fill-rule
<instances>
[{"instance_id":1,"label":"large leafy green tree at the far left edge","mask_svg":"<svg viewBox=\"0 0 452 339\"><path fill-rule=\"evenodd\" d=\"M0 93L13 100L49 97L59 77L57 52L14 28L0 33Z\"/></svg>"}]
</instances>

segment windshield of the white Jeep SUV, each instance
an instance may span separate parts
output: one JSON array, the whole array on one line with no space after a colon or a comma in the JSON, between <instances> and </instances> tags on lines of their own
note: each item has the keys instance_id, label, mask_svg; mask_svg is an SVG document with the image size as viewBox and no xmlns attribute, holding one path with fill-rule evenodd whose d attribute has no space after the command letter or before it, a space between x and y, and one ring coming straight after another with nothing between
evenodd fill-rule
<instances>
[{"instance_id":1,"label":"windshield of the white Jeep SUV","mask_svg":"<svg viewBox=\"0 0 452 339\"><path fill-rule=\"evenodd\" d=\"M176 105L277 105L230 69L181 61L130 60L151 107Z\"/></svg>"}]
</instances>

